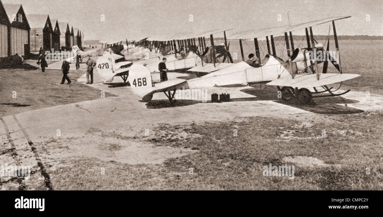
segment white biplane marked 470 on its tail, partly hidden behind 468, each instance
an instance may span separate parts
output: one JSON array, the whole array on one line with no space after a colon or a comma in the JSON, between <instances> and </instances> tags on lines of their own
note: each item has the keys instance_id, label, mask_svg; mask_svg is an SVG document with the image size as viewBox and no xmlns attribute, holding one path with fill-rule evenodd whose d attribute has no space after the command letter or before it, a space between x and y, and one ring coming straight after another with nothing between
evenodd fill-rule
<instances>
[{"instance_id":1,"label":"white biplane marked 470 on its tail, partly hidden behind 468","mask_svg":"<svg viewBox=\"0 0 383 217\"><path fill-rule=\"evenodd\" d=\"M211 31L211 33L218 32L222 32L222 30ZM150 56L149 52L152 52L151 54L159 55L154 55L155 57L152 58L142 58L132 62L135 64L142 64L146 66L151 72L152 81L159 80L158 64L162 61L162 58L167 59L166 64L167 68L169 69L169 72L175 72L183 69L191 69L193 67L198 66L198 64L203 65L203 62L206 62L206 64L210 64L211 66L213 66L212 63L209 63L209 61L207 61L207 59L211 58L208 58L208 54L206 54L206 51L204 54L199 53L195 44L195 40L190 39L191 34L192 33L179 33L177 35L170 36L170 38L178 37L178 50L176 49L177 45L175 40L160 41L164 40L166 37L169 38L169 36L157 36L142 39L137 44L137 48L141 48L141 51L137 49L136 54L146 52L146 56ZM217 51L218 56L220 55L220 50L224 50L223 56L225 56L224 59L226 59L228 52L226 52L225 48L222 49L221 47L222 46L217 46L215 50ZM149 49L150 51L146 50L145 48ZM206 50L209 50L209 48L207 48ZM210 49L210 51L211 50L212 49ZM121 69L116 69L116 67L109 67L112 64L111 62L113 62L113 58L110 57L100 57L97 60L97 71L103 78L104 82L111 81L114 76L121 76L124 82L126 82L126 78L129 74L129 66L126 66ZM206 72L216 71L220 68L218 64L215 67L210 67L210 65L205 65L204 69ZM224 66L224 64L222 66Z\"/></svg>"}]
</instances>

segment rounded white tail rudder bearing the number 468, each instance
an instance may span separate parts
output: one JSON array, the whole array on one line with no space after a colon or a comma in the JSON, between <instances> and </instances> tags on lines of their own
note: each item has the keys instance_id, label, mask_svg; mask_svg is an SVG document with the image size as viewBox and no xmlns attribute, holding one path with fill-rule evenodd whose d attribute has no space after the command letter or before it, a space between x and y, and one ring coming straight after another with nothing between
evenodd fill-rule
<instances>
[{"instance_id":1,"label":"rounded white tail rudder bearing the number 468","mask_svg":"<svg viewBox=\"0 0 383 217\"><path fill-rule=\"evenodd\" d=\"M131 90L137 94L145 102L150 101L153 97L152 77L147 67L141 64L133 64L129 68L128 81Z\"/></svg>"}]
</instances>

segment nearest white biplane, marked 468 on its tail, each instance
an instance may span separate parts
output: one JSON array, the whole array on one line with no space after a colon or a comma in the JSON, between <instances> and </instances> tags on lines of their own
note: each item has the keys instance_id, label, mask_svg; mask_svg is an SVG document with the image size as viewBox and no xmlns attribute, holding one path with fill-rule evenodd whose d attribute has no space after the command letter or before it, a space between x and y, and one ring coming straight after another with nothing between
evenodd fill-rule
<instances>
[{"instance_id":1,"label":"nearest white biplane, marked 468 on its tail","mask_svg":"<svg viewBox=\"0 0 383 217\"><path fill-rule=\"evenodd\" d=\"M297 99L297 101L301 104L308 103L313 97L342 95L350 91L347 90L342 93L335 93L335 91L340 88L342 81L360 76L358 74L343 73L340 61L339 43L337 39L335 21L349 17L350 16L330 17L294 26L281 26L234 33L229 36L228 39L239 40L242 61L232 63L230 62L230 58L228 58L228 64L222 66L222 68L218 70L214 70L218 63L216 62L213 34L210 34L212 47L211 57L213 57L211 58L213 61L212 66L208 64L202 65L203 61L201 61L201 66L196 66L197 69L193 69L203 72L209 72L209 70L211 70L209 74L189 80L174 79L154 84L151 79L151 71L149 68L142 66L141 64L133 64L130 67L128 81L133 84L131 86L132 91L144 101L151 100L153 94L157 92L164 92L170 102L172 102L177 89L197 89L222 85L249 85L256 83L265 83L267 85L277 86L278 91L282 94L283 100ZM329 33L326 42L324 43L327 43L327 46L323 46L321 43L318 43L318 41L314 38L312 27L324 23L332 23L337 57L331 56L329 53L329 36L331 26L329 26ZM306 38L307 45L295 48L292 32L300 30L305 31L304 37ZM226 51L228 51L226 31L224 31L224 35L225 48ZM284 36L284 40L282 41L284 41L287 51L287 57L285 60L283 60L282 55L278 56L275 49L274 36L278 35L281 35L282 37ZM265 38L267 44L267 54L264 58L261 58L260 56L261 50L258 43L258 41L262 38ZM200 39L201 38L199 38L199 41L201 41ZM244 61L242 43L246 42L246 39L254 40L254 53L258 59L263 59L260 67L252 67ZM190 40L193 41L193 39ZM199 43L198 46L200 46L200 44L203 43ZM338 73L327 73L328 62L332 63ZM211 69L205 70L208 68ZM334 90L333 87L329 87L329 85L336 83L340 83L337 89ZM323 90L318 90L320 87L322 87ZM309 89L312 89L313 91ZM328 92L329 94L323 95L322 93L325 92Z\"/></svg>"}]
</instances>

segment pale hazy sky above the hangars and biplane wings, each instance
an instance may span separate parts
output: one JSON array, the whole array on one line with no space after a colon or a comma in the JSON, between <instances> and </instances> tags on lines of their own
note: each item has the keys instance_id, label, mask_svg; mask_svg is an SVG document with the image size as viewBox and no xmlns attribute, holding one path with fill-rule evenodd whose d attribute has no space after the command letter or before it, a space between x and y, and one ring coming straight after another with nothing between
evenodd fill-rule
<instances>
[{"instance_id":1,"label":"pale hazy sky above the hangars and biplane wings","mask_svg":"<svg viewBox=\"0 0 383 217\"><path fill-rule=\"evenodd\" d=\"M235 32L283 26L289 25L287 14L291 25L331 16L352 16L336 21L338 35L383 35L383 0L1 1L21 3L27 15L49 14L51 19L69 22L83 32L84 40L134 40L217 28L233 28L231 31ZM314 35L327 35L328 29L328 24L314 27Z\"/></svg>"}]
</instances>

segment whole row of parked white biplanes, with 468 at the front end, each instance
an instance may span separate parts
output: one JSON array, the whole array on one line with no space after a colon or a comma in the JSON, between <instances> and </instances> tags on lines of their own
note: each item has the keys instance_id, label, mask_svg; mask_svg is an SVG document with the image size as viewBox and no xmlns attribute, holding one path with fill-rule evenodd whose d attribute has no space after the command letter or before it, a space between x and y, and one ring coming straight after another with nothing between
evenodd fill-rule
<instances>
[{"instance_id":1,"label":"whole row of parked white biplanes, with 468 at the front end","mask_svg":"<svg viewBox=\"0 0 383 217\"><path fill-rule=\"evenodd\" d=\"M134 62L115 62L115 58L104 52L97 60L97 70L104 82L113 80L114 76L121 76L124 82L128 80L132 91L143 101L152 99L153 94L164 92L170 102L175 100L177 89L200 89L205 87L257 84L277 86L283 100L295 99L301 104L308 103L313 97L327 97L342 95L349 90L335 93L342 81L358 77L358 74L345 74L339 55L339 44L335 28L335 20L349 18L350 16L331 17L321 20L301 23L294 26L282 26L234 32L234 30L219 29L202 33L180 33L172 36L159 36L145 38L140 41L128 43L128 50L137 53L146 49L144 58ZM329 33L322 45L313 35L312 27L329 23ZM331 56L329 51L330 30L334 35L337 56ZM305 31L304 47L294 47L293 32ZM223 43L214 45L213 36L223 35ZM227 36L228 35L228 36ZM283 60L275 48L275 36L284 35L284 49L287 59ZM261 60L259 67L252 67L245 62L242 44L254 39L254 53ZM266 39L267 52L262 51L259 41ZM234 63L229 52L229 43L239 40L242 61ZM210 41L210 46L206 46ZM229 41L229 43L228 43ZM303 39L304 41L304 39ZM131 52L130 51L130 52ZM265 53L263 57L260 53ZM151 54L154 58L151 57ZM167 58L166 66L169 71L184 70L195 72L198 77L192 79L172 79L163 82L153 82L159 77L158 64L162 58ZM337 73L327 73L329 62L335 67ZM339 84L337 89L329 87ZM322 88L322 89L319 89ZM328 94L322 94L322 93ZM276 94L277 95L277 94Z\"/></svg>"}]
</instances>

